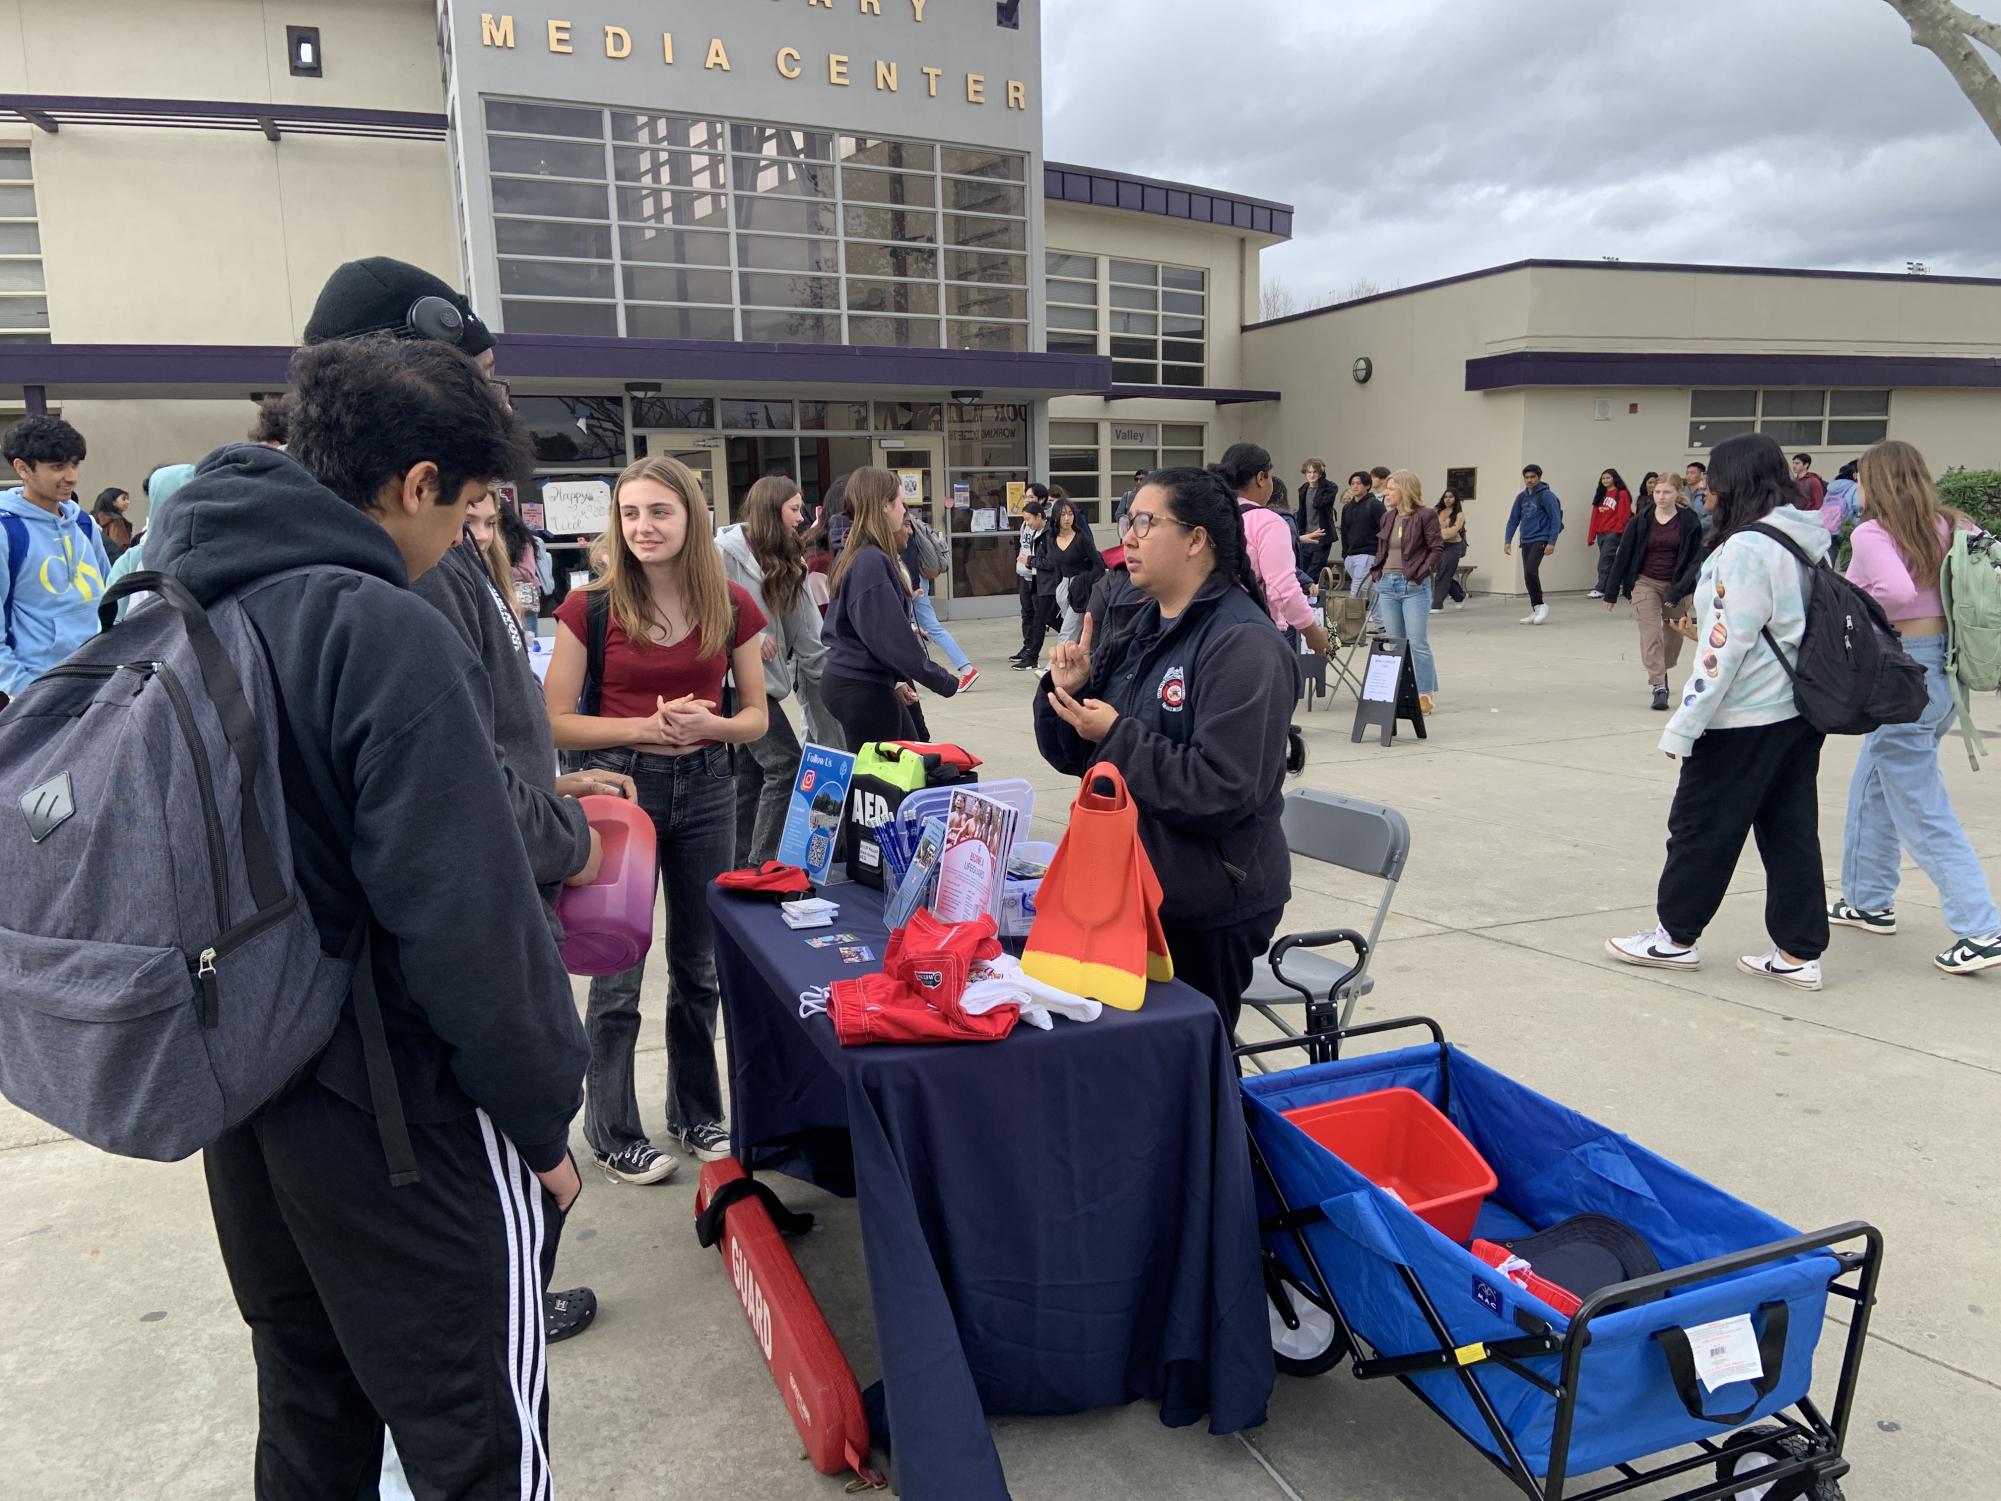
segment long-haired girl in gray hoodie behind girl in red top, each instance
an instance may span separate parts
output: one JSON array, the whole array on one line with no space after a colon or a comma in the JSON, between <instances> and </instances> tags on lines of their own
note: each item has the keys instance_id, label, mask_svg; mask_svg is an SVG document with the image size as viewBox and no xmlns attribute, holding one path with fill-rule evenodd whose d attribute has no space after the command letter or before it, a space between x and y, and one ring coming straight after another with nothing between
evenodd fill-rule
<instances>
[{"instance_id":1,"label":"long-haired girl in gray hoodie behind girl in red top","mask_svg":"<svg viewBox=\"0 0 2001 1501\"><path fill-rule=\"evenodd\" d=\"M798 688L806 738L834 750L844 748L840 726L820 700L820 610L806 594L806 554L798 524L806 500L798 480L766 474L750 486L742 502L742 522L716 534L722 570L756 600L764 618L764 698L770 726L736 757L736 863L764 865L778 859L778 837L798 777L798 736L778 706Z\"/></svg>"}]
</instances>

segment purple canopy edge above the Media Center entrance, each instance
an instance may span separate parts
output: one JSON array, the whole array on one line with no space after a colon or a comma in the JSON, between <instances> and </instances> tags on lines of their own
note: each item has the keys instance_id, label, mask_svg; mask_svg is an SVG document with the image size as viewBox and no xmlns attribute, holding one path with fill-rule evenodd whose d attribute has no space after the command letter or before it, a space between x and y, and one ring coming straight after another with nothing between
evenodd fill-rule
<instances>
[{"instance_id":1,"label":"purple canopy edge above the Media Center entrance","mask_svg":"<svg viewBox=\"0 0 2001 1501\"><path fill-rule=\"evenodd\" d=\"M286 384L290 362L290 348L240 344L0 344L0 386L268 388ZM1051 396L1105 394L1113 368L1097 354L562 334L500 334L496 364L510 380L818 382Z\"/></svg>"}]
</instances>

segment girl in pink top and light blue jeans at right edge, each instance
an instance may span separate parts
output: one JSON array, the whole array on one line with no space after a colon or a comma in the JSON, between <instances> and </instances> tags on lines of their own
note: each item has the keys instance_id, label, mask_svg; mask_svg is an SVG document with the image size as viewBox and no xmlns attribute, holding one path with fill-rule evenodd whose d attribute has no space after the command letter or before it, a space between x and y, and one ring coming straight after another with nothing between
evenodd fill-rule
<instances>
[{"instance_id":1,"label":"girl in pink top and light blue jeans at right edge","mask_svg":"<svg viewBox=\"0 0 2001 1501\"><path fill-rule=\"evenodd\" d=\"M2001 965L2001 911L1939 771L1939 742L1957 714L1939 566L1953 528L1971 522L1939 504L1925 456L1907 442L1865 452L1857 478L1863 522L1849 580L1875 596L1905 652L1923 664L1929 700L1915 724L1883 724L1863 740L1849 781L1841 901L1827 917L1863 933L1895 933L1897 879L1909 855L1939 889L1945 925L1957 935L1931 963L1973 975Z\"/></svg>"}]
</instances>

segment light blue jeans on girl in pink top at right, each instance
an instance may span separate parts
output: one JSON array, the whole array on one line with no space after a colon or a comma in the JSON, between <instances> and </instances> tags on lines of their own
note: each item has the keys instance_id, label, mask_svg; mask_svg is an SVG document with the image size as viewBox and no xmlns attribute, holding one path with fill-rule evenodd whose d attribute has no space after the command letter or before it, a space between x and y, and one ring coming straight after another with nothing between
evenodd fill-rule
<instances>
[{"instance_id":1,"label":"light blue jeans on girl in pink top at right","mask_svg":"<svg viewBox=\"0 0 2001 1501\"><path fill-rule=\"evenodd\" d=\"M1939 740L1957 716L1945 676L1945 636L1913 636L1903 648L1923 664L1929 700L1915 724L1885 724L1863 740L1849 783L1841 895L1865 911L1889 911L1909 853L1939 889L1945 925L1957 937L1993 933L2001 929L2001 911L1939 771Z\"/></svg>"}]
</instances>

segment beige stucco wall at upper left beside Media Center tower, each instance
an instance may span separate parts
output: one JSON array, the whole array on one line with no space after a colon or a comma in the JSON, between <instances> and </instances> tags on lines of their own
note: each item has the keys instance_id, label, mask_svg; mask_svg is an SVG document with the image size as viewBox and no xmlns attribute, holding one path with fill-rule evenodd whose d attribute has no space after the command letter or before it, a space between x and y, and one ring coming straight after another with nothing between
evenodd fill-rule
<instances>
[{"instance_id":1,"label":"beige stucco wall at upper left beside Media Center tower","mask_svg":"<svg viewBox=\"0 0 2001 1501\"><path fill-rule=\"evenodd\" d=\"M320 28L324 78L290 76L286 24ZM442 110L434 14L410 0L0 0L0 84L30 94ZM32 140L58 342L294 342L328 272L366 254L458 280L438 142L78 124Z\"/></svg>"}]
</instances>

